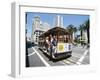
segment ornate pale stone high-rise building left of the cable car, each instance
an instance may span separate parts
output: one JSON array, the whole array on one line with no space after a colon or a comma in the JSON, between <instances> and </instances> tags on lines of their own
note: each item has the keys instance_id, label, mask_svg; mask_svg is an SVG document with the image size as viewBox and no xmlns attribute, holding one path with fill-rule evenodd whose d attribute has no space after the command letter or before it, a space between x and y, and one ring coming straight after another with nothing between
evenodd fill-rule
<instances>
[{"instance_id":1,"label":"ornate pale stone high-rise building left of the cable car","mask_svg":"<svg viewBox=\"0 0 100 80\"><path fill-rule=\"evenodd\" d=\"M39 36L48 29L50 29L50 25L48 23L42 23L39 16L34 17L31 41L38 44Z\"/></svg>"}]
</instances>

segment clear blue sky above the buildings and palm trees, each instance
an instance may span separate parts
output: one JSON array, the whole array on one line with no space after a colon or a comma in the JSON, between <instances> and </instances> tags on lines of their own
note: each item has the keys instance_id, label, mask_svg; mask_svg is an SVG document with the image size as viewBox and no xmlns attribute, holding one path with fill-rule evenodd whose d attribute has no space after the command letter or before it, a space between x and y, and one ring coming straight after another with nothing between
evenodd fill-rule
<instances>
[{"instance_id":1,"label":"clear blue sky above the buildings and palm trees","mask_svg":"<svg viewBox=\"0 0 100 80\"><path fill-rule=\"evenodd\" d=\"M60 15L63 17L63 26L64 28L68 27L68 25L72 24L75 27L79 27L80 24L83 24L86 20L89 19L89 15L79 15L79 14L59 14L59 13L34 13L34 12L26 12L27 14L27 35L31 37L32 33L32 23L35 16L39 16L40 20L44 23L48 23L50 27L54 27L54 20L56 15ZM77 32L79 34L79 32Z\"/></svg>"}]
</instances>

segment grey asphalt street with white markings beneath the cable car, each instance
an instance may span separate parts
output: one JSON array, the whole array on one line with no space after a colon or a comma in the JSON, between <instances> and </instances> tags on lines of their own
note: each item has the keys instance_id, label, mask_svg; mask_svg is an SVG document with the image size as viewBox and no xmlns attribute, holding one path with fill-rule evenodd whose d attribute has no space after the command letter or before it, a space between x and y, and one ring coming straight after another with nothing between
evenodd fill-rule
<instances>
[{"instance_id":1,"label":"grey asphalt street with white markings beneath the cable car","mask_svg":"<svg viewBox=\"0 0 100 80\"><path fill-rule=\"evenodd\" d=\"M73 47L72 56L69 58L52 60L38 46L28 47L26 55L26 67L44 67L44 66L66 66L66 65L86 65L90 63L89 49L83 47Z\"/></svg>"}]
</instances>

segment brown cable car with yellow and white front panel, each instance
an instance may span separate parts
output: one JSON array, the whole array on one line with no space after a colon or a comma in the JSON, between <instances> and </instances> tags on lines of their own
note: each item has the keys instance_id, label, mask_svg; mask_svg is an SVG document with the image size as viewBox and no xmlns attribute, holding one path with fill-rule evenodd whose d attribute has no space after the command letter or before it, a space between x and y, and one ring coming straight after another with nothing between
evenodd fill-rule
<instances>
[{"instance_id":1,"label":"brown cable car with yellow and white front panel","mask_svg":"<svg viewBox=\"0 0 100 80\"><path fill-rule=\"evenodd\" d=\"M56 38L56 46L46 46L46 39L50 41L50 36ZM44 32L39 36L39 48L53 59L59 59L72 55L72 37L66 29L61 27L54 27Z\"/></svg>"}]
</instances>

